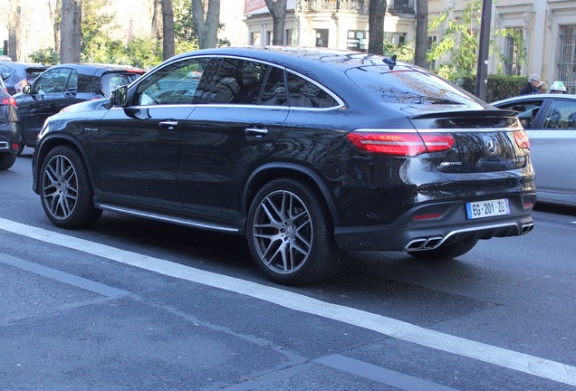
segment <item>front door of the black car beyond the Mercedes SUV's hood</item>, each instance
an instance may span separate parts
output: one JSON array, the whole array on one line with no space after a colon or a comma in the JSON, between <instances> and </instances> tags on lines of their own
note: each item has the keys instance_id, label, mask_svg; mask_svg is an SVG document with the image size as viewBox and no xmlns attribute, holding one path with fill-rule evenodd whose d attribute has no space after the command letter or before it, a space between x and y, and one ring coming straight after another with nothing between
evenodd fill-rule
<instances>
[{"instance_id":1,"label":"front door of the black car beyond the Mercedes SUV's hood","mask_svg":"<svg viewBox=\"0 0 576 391\"><path fill-rule=\"evenodd\" d=\"M73 97L65 93L72 72L75 71L71 68L51 68L36 78L29 94L18 96L18 110L26 143L34 144L44 120L74 103Z\"/></svg>"}]
</instances>

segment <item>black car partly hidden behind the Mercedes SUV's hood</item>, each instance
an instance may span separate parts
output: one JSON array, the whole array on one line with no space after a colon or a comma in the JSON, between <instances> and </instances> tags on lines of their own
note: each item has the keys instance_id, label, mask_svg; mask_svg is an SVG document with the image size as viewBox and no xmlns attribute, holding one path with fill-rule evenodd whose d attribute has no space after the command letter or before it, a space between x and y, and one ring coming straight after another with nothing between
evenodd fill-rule
<instances>
[{"instance_id":1,"label":"black car partly hidden behind the Mercedes SUV's hood","mask_svg":"<svg viewBox=\"0 0 576 391\"><path fill-rule=\"evenodd\" d=\"M51 115L74 103L109 96L114 88L130 84L143 73L127 65L54 65L14 96L22 119L23 145L35 146L44 120Z\"/></svg>"}]
</instances>

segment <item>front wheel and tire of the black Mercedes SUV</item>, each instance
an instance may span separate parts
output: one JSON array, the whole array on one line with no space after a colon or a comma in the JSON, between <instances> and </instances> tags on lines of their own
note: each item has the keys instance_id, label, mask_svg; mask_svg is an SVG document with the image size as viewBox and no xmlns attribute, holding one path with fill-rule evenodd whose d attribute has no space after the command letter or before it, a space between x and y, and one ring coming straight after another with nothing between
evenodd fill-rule
<instances>
[{"instance_id":1,"label":"front wheel and tire of the black Mercedes SUV","mask_svg":"<svg viewBox=\"0 0 576 391\"><path fill-rule=\"evenodd\" d=\"M40 198L44 213L62 228L94 224L102 211L94 207L90 176L80 155L72 148L53 148L40 171Z\"/></svg>"}]
</instances>

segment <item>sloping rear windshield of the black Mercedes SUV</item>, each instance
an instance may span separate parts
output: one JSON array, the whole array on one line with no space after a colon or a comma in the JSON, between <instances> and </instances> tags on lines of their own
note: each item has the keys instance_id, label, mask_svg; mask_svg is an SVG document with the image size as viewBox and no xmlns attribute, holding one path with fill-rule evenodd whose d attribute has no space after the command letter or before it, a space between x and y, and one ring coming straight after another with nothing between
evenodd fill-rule
<instances>
[{"instance_id":1,"label":"sloping rear windshield of the black Mercedes SUV","mask_svg":"<svg viewBox=\"0 0 576 391\"><path fill-rule=\"evenodd\" d=\"M477 105L476 98L449 81L417 68L363 66L346 72L373 100L408 105Z\"/></svg>"}]
</instances>

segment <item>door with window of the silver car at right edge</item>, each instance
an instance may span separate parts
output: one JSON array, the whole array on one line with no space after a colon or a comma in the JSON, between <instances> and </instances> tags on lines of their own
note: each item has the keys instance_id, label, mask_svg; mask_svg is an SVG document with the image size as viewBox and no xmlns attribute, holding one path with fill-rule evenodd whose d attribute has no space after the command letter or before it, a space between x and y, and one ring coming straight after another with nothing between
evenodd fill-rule
<instances>
[{"instance_id":1,"label":"door with window of the silver car at right edge","mask_svg":"<svg viewBox=\"0 0 576 391\"><path fill-rule=\"evenodd\" d=\"M576 194L576 100L553 99L540 111L528 133L536 189L562 200Z\"/></svg>"}]
</instances>

